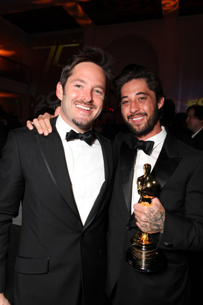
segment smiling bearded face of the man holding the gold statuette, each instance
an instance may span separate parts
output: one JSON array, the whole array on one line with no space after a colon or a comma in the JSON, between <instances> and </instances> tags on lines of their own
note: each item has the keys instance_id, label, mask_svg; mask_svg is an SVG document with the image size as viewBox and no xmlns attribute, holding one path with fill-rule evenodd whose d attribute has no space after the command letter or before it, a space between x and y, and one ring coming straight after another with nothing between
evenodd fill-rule
<instances>
[{"instance_id":1,"label":"smiling bearded face of the man holding the gold statuette","mask_svg":"<svg viewBox=\"0 0 203 305\"><path fill-rule=\"evenodd\" d=\"M133 79L121 87L121 112L129 129L140 140L161 131L158 109L164 98L156 102L155 94L144 79Z\"/></svg>"}]
</instances>

